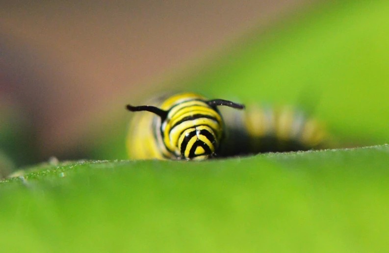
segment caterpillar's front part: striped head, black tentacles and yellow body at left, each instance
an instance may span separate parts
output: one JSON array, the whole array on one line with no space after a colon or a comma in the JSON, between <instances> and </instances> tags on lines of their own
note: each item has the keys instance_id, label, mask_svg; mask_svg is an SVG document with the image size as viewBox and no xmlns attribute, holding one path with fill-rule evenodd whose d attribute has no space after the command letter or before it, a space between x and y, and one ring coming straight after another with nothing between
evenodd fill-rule
<instances>
[{"instance_id":1,"label":"caterpillar's front part: striped head, black tentacles and yellow body at left","mask_svg":"<svg viewBox=\"0 0 389 253\"><path fill-rule=\"evenodd\" d=\"M139 113L130 125L127 148L134 159L195 159L218 155L225 135L217 106L243 109L226 100L207 100L195 93L182 93L150 101L151 105L127 109Z\"/></svg>"}]
</instances>

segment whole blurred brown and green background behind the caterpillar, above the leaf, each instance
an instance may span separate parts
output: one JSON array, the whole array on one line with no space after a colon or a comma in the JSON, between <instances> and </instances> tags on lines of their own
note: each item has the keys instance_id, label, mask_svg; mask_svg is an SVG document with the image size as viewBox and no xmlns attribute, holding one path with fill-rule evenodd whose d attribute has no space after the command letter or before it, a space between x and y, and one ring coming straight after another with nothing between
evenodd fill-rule
<instances>
[{"instance_id":1,"label":"whole blurred brown and green background behind the caterpillar, above the leaf","mask_svg":"<svg viewBox=\"0 0 389 253\"><path fill-rule=\"evenodd\" d=\"M165 90L303 94L344 147L388 143L388 24L384 0L1 1L0 166L126 159L125 105Z\"/></svg>"}]
</instances>

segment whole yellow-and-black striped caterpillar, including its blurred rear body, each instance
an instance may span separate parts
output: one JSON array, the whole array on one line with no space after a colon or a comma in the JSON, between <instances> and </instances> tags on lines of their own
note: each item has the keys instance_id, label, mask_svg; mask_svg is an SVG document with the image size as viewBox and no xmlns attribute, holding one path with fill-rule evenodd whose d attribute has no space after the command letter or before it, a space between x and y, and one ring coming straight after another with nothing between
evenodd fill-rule
<instances>
[{"instance_id":1,"label":"whole yellow-and-black striped caterpillar, including its blurred rear body","mask_svg":"<svg viewBox=\"0 0 389 253\"><path fill-rule=\"evenodd\" d=\"M253 104L242 110L243 104L195 93L164 95L147 104L126 107L137 112L126 143L131 159L204 160L328 146L324 127L290 107Z\"/></svg>"}]
</instances>

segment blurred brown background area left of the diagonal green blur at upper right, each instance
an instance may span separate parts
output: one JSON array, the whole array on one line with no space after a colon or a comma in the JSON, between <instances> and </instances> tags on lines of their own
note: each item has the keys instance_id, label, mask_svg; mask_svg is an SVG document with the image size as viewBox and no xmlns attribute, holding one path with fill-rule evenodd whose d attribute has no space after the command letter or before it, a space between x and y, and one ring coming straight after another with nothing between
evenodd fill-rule
<instances>
[{"instance_id":1,"label":"blurred brown background area left of the diagonal green blur at upper right","mask_svg":"<svg viewBox=\"0 0 389 253\"><path fill-rule=\"evenodd\" d=\"M28 122L40 160L72 158L161 79L307 3L3 1L0 106Z\"/></svg>"}]
</instances>

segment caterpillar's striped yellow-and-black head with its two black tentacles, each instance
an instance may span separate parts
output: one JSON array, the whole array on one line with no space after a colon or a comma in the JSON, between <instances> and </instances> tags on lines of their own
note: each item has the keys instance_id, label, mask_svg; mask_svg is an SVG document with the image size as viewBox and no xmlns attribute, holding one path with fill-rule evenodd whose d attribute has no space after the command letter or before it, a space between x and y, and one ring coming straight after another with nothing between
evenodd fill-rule
<instances>
[{"instance_id":1,"label":"caterpillar's striped yellow-and-black head with its two black tentacles","mask_svg":"<svg viewBox=\"0 0 389 253\"><path fill-rule=\"evenodd\" d=\"M225 105L243 109L244 105L199 98L202 97L175 101L169 104L167 110L149 105L127 105L127 109L149 111L159 116L155 136L165 157L203 160L218 151L224 135L224 123L216 107ZM165 107L162 105L162 108Z\"/></svg>"}]
</instances>

